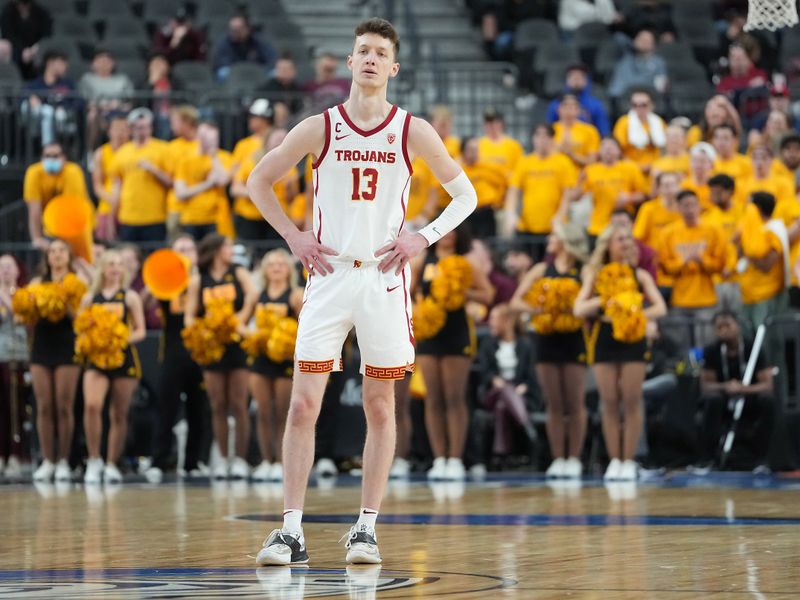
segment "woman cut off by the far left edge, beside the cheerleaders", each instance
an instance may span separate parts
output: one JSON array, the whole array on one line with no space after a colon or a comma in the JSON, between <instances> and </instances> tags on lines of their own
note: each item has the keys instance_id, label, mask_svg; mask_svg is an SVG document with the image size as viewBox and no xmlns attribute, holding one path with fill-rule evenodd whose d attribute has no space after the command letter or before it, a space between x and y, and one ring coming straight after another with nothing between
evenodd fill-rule
<instances>
[{"instance_id":1,"label":"woman cut off by the far left edge, beside the cheerleaders","mask_svg":"<svg viewBox=\"0 0 800 600\"><path fill-rule=\"evenodd\" d=\"M14 321L11 301L19 279L17 261L10 254L0 256L0 476L7 478L22 474L22 396L28 340L25 327Z\"/></svg>"}]
</instances>

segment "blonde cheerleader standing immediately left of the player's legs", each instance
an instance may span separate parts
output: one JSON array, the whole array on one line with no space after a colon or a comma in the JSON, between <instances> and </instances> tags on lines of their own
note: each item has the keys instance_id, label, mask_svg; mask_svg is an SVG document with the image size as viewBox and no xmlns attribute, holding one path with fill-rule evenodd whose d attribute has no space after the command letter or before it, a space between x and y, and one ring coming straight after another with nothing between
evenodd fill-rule
<instances>
[{"instance_id":1,"label":"blonde cheerleader standing immediately left of the player's legs","mask_svg":"<svg viewBox=\"0 0 800 600\"><path fill-rule=\"evenodd\" d=\"M258 305L279 317L295 317L303 304L303 290L297 285L297 270L286 250L272 250L261 260L264 288ZM258 445L261 464L253 472L259 481L281 481L283 466L281 442L289 412L292 392L291 359L276 363L267 356L257 357L250 365L250 391L258 406Z\"/></svg>"}]
</instances>

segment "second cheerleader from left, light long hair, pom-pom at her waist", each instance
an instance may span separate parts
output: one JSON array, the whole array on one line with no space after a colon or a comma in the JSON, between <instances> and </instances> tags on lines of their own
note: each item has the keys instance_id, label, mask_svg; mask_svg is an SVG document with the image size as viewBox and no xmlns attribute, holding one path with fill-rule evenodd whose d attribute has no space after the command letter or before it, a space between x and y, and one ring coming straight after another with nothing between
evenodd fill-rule
<instances>
[{"instance_id":1,"label":"second cheerleader from left, light long hair, pom-pom at her waist","mask_svg":"<svg viewBox=\"0 0 800 600\"><path fill-rule=\"evenodd\" d=\"M103 369L89 362L83 374L83 428L89 459L86 463L84 483L119 483L122 475L117 461L125 446L128 434L128 407L131 397L142 376L139 356L134 344L145 336L144 309L139 295L128 289L130 273L122 262L122 255L116 250L106 250L99 260L89 292L84 296L81 306L88 308L100 304L119 315L130 328L125 359L115 369ZM103 404L110 394L109 430L106 463L100 456L100 442L103 434Z\"/></svg>"}]
</instances>

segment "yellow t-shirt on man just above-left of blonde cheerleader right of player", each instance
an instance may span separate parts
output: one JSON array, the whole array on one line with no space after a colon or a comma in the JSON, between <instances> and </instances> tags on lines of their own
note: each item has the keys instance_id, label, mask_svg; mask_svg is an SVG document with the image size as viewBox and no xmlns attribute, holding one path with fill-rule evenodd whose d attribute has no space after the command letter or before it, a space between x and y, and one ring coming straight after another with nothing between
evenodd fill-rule
<instances>
[{"instance_id":1,"label":"yellow t-shirt on man just above-left of blonde cheerleader right of player","mask_svg":"<svg viewBox=\"0 0 800 600\"><path fill-rule=\"evenodd\" d=\"M553 217L567 188L578 182L578 170L566 155L523 157L511 176L511 187L522 191L517 229L525 233L550 233Z\"/></svg>"}]
</instances>

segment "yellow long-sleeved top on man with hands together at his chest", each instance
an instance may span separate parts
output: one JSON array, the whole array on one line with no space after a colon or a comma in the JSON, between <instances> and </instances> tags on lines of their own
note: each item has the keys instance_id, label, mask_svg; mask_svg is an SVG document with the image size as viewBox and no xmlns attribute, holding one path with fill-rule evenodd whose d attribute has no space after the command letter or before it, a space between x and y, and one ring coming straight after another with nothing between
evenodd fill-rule
<instances>
[{"instance_id":1,"label":"yellow long-sleeved top on man with hands together at his chest","mask_svg":"<svg viewBox=\"0 0 800 600\"><path fill-rule=\"evenodd\" d=\"M686 260L699 252L700 264ZM670 225L661 236L659 264L672 277L670 304L680 308L707 308L717 303L714 276L725 267L725 234L715 225L687 227L683 220Z\"/></svg>"}]
</instances>

